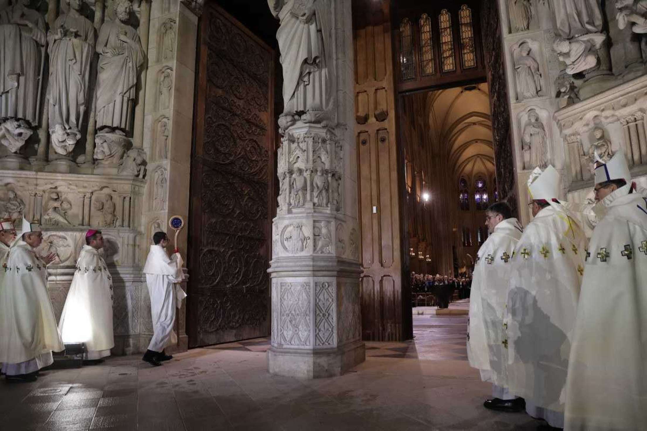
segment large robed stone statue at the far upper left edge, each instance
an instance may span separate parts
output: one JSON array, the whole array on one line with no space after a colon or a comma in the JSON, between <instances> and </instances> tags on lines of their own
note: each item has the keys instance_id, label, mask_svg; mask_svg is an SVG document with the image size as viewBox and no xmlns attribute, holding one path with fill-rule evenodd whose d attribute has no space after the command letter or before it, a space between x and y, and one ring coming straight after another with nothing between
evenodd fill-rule
<instances>
[{"instance_id":1,"label":"large robed stone statue at the far upper left edge","mask_svg":"<svg viewBox=\"0 0 647 431\"><path fill-rule=\"evenodd\" d=\"M0 10L0 119L19 118L38 125L45 59L45 20L14 0Z\"/></svg>"}]
</instances>

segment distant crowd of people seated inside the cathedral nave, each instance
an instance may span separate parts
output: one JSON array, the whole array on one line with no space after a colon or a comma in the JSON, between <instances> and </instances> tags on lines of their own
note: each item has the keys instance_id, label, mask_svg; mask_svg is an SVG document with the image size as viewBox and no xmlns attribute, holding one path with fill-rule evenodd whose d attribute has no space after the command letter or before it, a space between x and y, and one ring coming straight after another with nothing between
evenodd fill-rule
<instances>
[{"instance_id":1,"label":"distant crowd of people seated inside the cathedral nave","mask_svg":"<svg viewBox=\"0 0 647 431\"><path fill-rule=\"evenodd\" d=\"M438 305L438 308L447 308L454 299L454 293L457 293L459 299L470 297L470 288L472 287L471 275L459 275L453 277L450 275L430 275L411 273L411 292L414 294L431 293Z\"/></svg>"}]
</instances>

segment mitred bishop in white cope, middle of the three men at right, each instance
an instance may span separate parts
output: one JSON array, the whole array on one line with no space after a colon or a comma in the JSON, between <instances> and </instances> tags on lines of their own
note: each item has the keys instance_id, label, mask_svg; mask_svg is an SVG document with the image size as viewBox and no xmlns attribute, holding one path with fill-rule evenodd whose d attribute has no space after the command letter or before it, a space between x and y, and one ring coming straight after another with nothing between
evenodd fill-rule
<instances>
[{"instance_id":1,"label":"mitred bishop in white cope, middle of the three men at right","mask_svg":"<svg viewBox=\"0 0 647 431\"><path fill-rule=\"evenodd\" d=\"M529 178L533 220L512 259L507 299L507 383L526 412L564 426L566 383L587 239L575 215L558 202L560 175L549 165Z\"/></svg>"}]
</instances>

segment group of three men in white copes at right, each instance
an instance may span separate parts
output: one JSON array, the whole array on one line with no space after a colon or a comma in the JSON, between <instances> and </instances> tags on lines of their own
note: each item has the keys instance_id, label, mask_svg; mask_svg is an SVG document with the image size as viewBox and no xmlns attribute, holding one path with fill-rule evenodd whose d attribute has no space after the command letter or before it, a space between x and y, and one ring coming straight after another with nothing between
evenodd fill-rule
<instances>
[{"instance_id":1,"label":"group of three men in white copes at right","mask_svg":"<svg viewBox=\"0 0 647 431\"><path fill-rule=\"evenodd\" d=\"M507 204L488 207L474 268L468 358L492 383L484 406L549 428L644 429L647 190L622 151L598 158L592 207L558 200L551 165L528 190L525 229ZM578 214L595 220L590 241Z\"/></svg>"}]
</instances>

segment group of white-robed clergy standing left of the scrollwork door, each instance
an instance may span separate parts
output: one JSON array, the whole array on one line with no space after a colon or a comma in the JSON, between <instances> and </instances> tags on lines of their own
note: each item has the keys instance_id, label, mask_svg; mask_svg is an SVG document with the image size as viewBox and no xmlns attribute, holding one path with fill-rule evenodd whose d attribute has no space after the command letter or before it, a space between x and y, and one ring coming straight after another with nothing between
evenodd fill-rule
<instances>
[{"instance_id":1,"label":"group of white-robed clergy standing left of the scrollwork door","mask_svg":"<svg viewBox=\"0 0 647 431\"><path fill-rule=\"evenodd\" d=\"M23 218L20 231L11 219L0 220L0 363L10 382L38 379L42 368L54 363L52 352L64 352L67 344L83 344L85 364L111 354L113 335L113 282L100 250L102 232L85 233L72 284L60 321L56 322L47 290L47 265L56 255L40 256L43 235L38 223ZM172 359L164 349L177 343L173 330L176 309L186 293L177 285L183 279L182 258L176 248L166 253L168 237L153 235L144 273L151 300L153 337L143 361L160 366Z\"/></svg>"}]
</instances>

